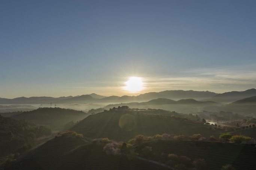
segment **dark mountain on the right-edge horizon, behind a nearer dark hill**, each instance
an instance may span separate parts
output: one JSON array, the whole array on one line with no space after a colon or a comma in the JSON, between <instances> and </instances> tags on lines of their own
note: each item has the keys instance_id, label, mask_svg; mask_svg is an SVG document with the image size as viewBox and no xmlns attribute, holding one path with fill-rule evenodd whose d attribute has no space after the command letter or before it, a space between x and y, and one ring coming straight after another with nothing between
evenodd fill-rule
<instances>
[{"instance_id":1,"label":"dark mountain on the right-edge horizon, behind a nearer dark hill","mask_svg":"<svg viewBox=\"0 0 256 170\"><path fill-rule=\"evenodd\" d=\"M214 97L208 99L210 101L231 103L237 100L241 100L247 97L256 96L256 89L248 89L246 91L231 91L222 94L217 94Z\"/></svg>"}]
</instances>

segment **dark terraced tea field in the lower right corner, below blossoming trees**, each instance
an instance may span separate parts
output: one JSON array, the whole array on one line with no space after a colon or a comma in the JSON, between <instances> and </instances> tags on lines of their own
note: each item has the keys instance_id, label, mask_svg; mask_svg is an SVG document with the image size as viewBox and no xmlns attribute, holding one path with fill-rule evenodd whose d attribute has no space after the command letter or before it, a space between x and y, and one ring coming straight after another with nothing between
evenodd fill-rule
<instances>
[{"instance_id":1,"label":"dark terraced tea field in the lower right corner, below blossoming trees","mask_svg":"<svg viewBox=\"0 0 256 170\"><path fill-rule=\"evenodd\" d=\"M237 170L256 169L256 147L252 145L194 141L149 141L144 145L152 147L156 155L165 152L204 158L209 170L219 170L225 164L232 164Z\"/></svg>"}]
</instances>

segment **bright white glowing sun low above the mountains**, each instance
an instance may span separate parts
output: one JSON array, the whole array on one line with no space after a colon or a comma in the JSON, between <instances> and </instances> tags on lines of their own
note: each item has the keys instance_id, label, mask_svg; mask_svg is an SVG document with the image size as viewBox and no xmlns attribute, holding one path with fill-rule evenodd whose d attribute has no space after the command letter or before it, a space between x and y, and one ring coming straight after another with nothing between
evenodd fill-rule
<instances>
[{"instance_id":1,"label":"bright white glowing sun low above the mountains","mask_svg":"<svg viewBox=\"0 0 256 170\"><path fill-rule=\"evenodd\" d=\"M130 77L125 84L125 89L130 92L138 92L143 89L143 82L140 77Z\"/></svg>"}]
</instances>

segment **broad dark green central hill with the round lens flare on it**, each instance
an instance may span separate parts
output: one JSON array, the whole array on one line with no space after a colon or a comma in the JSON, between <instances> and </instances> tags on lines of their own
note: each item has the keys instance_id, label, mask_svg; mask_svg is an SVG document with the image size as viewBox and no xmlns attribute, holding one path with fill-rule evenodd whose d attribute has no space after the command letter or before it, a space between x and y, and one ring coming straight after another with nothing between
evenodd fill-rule
<instances>
[{"instance_id":1,"label":"broad dark green central hill with the round lens flare on it","mask_svg":"<svg viewBox=\"0 0 256 170\"><path fill-rule=\"evenodd\" d=\"M90 138L110 138L127 141L135 135L153 136L155 134L218 136L221 132L211 130L209 125L179 117L155 115L157 111L111 110L90 115L70 130L82 133Z\"/></svg>"}]
</instances>

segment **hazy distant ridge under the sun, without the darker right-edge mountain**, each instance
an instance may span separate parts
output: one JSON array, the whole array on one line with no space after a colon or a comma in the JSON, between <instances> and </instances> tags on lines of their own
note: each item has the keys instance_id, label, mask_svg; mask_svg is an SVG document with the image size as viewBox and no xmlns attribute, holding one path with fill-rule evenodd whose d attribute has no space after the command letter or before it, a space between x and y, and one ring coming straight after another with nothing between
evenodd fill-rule
<instances>
[{"instance_id":1,"label":"hazy distant ridge under the sun, without the darker right-edge mountain","mask_svg":"<svg viewBox=\"0 0 256 170\"><path fill-rule=\"evenodd\" d=\"M45 103L89 103L89 102L143 102L157 98L168 98L173 100L180 100L183 98L194 98L201 100L210 98L216 95L214 92L209 91L183 91L183 90L167 90L161 92L149 92L140 94L138 96L109 96L98 95L95 93L68 96L68 97L18 97L13 99L0 98L0 104L45 104Z\"/></svg>"}]
</instances>

